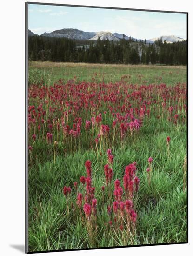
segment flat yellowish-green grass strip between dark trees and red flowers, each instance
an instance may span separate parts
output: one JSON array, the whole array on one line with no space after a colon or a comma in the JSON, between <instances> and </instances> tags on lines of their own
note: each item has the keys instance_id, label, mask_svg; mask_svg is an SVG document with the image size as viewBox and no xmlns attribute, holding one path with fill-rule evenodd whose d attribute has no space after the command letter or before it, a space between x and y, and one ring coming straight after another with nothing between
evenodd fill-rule
<instances>
[{"instance_id":1,"label":"flat yellowish-green grass strip between dark trees and red flowers","mask_svg":"<svg viewBox=\"0 0 193 256\"><path fill-rule=\"evenodd\" d=\"M47 84L53 85L59 79L67 82L74 77L76 81L87 82L94 78L98 82L117 82L124 75L127 77L122 79L133 84L166 83L173 85L186 82L186 66L29 62L31 83L41 78Z\"/></svg>"}]
</instances>

